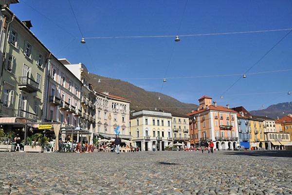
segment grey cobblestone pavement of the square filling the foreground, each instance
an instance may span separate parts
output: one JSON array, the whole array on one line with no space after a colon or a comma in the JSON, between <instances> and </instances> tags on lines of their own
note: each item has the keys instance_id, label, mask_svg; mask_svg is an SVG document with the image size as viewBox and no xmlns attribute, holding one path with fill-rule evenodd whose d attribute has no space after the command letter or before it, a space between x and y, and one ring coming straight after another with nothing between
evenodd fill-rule
<instances>
[{"instance_id":1,"label":"grey cobblestone pavement of the square filling the foreground","mask_svg":"<svg viewBox=\"0 0 292 195\"><path fill-rule=\"evenodd\" d=\"M242 154L2 152L0 195L292 194L292 153Z\"/></svg>"}]
</instances>

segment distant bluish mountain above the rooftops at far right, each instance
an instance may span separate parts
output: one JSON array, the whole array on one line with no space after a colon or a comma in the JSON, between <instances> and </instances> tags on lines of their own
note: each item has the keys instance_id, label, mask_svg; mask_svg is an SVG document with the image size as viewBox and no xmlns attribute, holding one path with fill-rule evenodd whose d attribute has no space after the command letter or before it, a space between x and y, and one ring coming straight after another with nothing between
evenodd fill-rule
<instances>
[{"instance_id":1,"label":"distant bluish mountain above the rooftops at far right","mask_svg":"<svg viewBox=\"0 0 292 195\"><path fill-rule=\"evenodd\" d=\"M271 118L284 117L292 113L292 101L274 104L266 109L250 111L250 113L256 116L268 116Z\"/></svg>"}]
</instances>

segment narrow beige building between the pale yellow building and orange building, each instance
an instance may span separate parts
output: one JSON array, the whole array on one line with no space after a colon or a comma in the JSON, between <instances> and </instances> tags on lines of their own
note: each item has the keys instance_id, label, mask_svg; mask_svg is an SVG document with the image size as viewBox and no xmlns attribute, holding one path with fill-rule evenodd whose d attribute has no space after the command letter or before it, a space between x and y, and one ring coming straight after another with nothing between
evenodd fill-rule
<instances>
[{"instance_id":1,"label":"narrow beige building between the pale yellow building and orange building","mask_svg":"<svg viewBox=\"0 0 292 195\"><path fill-rule=\"evenodd\" d=\"M183 147L190 148L189 118L187 116L172 115L173 143L182 143Z\"/></svg>"}]
</instances>

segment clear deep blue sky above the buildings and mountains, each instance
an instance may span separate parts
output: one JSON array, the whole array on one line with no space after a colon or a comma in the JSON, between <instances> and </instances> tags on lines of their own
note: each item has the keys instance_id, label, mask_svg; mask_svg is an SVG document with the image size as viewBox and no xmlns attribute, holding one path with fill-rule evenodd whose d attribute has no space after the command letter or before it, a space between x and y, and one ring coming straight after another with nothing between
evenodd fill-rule
<instances>
[{"instance_id":1,"label":"clear deep blue sky above the buildings and mountains","mask_svg":"<svg viewBox=\"0 0 292 195\"><path fill-rule=\"evenodd\" d=\"M176 35L185 0L71 3L85 37L150 36ZM31 30L57 58L82 62L90 72L110 78L164 78L173 47L166 78L241 74L288 33L183 37L180 42L174 37L87 39L85 45L80 43L82 36L68 0L21 0L10 8L20 20L32 20ZM179 35L292 28L291 19L291 0L188 0ZM250 73L291 68L292 33ZM292 101L292 95L287 95L292 90L291 75L292 71L250 75L240 79L222 99L220 95L238 76L168 79L163 88L162 80L125 80L184 102L198 104L198 98L207 95L220 105L243 105L254 110ZM269 92L283 93L231 96Z\"/></svg>"}]
</instances>

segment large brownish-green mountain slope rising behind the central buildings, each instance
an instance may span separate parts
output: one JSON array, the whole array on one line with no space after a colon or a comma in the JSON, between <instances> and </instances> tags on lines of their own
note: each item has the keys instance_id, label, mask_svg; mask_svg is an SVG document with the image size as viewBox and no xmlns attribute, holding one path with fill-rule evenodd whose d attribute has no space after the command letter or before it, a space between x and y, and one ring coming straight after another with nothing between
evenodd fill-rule
<instances>
[{"instance_id":1,"label":"large brownish-green mountain slope rising behind the central buildings","mask_svg":"<svg viewBox=\"0 0 292 195\"><path fill-rule=\"evenodd\" d=\"M100 83L97 82L98 79L102 79ZM185 115L198 108L196 104L183 103L158 92L149 92L119 79L107 79L106 77L90 74L89 82L93 84L92 87L96 91L109 92L111 95L131 100L130 107L132 110L146 109L154 111L155 107L157 107L157 111L161 109L172 114ZM159 100L158 97L161 99Z\"/></svg>"}]
</instances>

